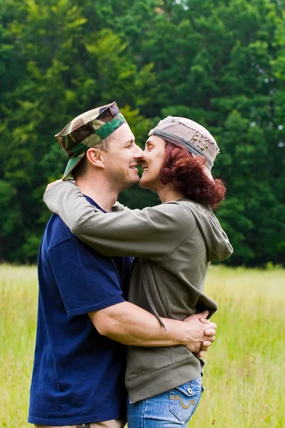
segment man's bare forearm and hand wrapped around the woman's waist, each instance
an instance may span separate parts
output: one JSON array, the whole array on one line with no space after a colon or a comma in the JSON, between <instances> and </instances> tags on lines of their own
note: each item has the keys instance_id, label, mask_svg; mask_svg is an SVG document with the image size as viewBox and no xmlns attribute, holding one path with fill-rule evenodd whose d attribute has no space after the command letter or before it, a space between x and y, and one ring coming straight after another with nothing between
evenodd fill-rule
<instances>
[{"instance_id":1,"label":"man's bare forearm and hand wrapped around the woman's waist","mask_svg":"<svg viewBox=\"0 0 285 428\"><path fill-rule=\"evenodd\" d=\"M89 315L101 335L124 345L142 347L185 345L189 349L191 341L200 343L209 340L209 337L204 336L204 330L208 327L199 326L199 320L191 324L162 318L165 331L154 315L130 302L118 303ZM198 345L196 349L199 352Z\"/></svg>"}]
</instances>

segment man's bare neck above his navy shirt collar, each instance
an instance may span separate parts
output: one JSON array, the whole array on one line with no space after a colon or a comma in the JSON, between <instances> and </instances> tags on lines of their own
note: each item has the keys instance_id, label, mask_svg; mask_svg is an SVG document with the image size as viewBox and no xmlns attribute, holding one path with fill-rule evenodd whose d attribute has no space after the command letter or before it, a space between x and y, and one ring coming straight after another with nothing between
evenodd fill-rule
<instances>
[{"instance_id":1,"label":"man's bare neck above his navy shirt collar","mask_svg":"<svg viewBox=\"0 0 285 428\"><path fill-rule=\"evenodd\" d=\"M80 188L81 193L89 196L107 212L111 210L117 201L118 193L111 189L110 185L102 178L90 180L90 178L84 176L76 180L76 185Z\"/></svg>"}]
</instances>

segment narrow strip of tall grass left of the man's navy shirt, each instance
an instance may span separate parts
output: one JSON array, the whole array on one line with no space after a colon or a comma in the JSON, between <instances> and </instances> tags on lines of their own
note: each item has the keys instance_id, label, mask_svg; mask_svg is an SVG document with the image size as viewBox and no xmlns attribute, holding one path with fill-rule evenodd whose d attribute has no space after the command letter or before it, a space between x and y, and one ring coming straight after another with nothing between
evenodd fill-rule
<instances>
[{"instance_id":1,"label":"narrow strip of tall grass left of the man's navy shirt","mask_svg":"<svg viewBox=\"0 0 285 428\"><path fill-rule=\"evenodd\" d=\"M35 267L0 266L0 427L27 424L36 329Z\"/></svg>"}]
</instances>

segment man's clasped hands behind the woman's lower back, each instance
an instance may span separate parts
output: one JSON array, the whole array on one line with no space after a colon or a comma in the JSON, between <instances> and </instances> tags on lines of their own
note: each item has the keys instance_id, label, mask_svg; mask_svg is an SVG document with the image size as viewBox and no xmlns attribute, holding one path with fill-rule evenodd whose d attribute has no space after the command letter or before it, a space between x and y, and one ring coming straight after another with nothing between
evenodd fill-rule
<instances>
[{"instance_id":1,"label":"man's clasped hands behind the woman's lower back","mask_svg":"<svg viewBox=\"0 0 285 428\"><path fill-rule=\"evenodd\" d=\"M207 351L215 340L217 325L206 319L208 314L208 311L204 311L190 315L184 320L190 327L187 350L197 354L198 357L202 357L202 351Z\"/></svg>"}]
</instances>

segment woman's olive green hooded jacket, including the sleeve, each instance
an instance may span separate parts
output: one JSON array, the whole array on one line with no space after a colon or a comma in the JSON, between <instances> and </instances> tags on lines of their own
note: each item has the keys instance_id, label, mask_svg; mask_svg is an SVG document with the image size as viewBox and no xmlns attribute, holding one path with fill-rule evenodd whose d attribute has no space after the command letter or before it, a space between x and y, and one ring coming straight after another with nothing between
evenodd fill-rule
<instances>
[{"instance_id":1,"label":"woman's olive green hooded jacket, including the sleeve","mask_svg":"<svg viewBox=\"0 0 285 428\"><path fill-rule=\"evenodd\" d=\"M214 258L232 245L211 210L187 199L143 210L102 213L72 183L48 189L44 200L85 243L108 256L135 256L129 301L160 317L184 320L217 303L204 295ZM162 321L160 320L163 325ZM204 363L183 346L128 347L125 375L130 402L155 396L195 379Z\"/></svg>"}]
</instances>

